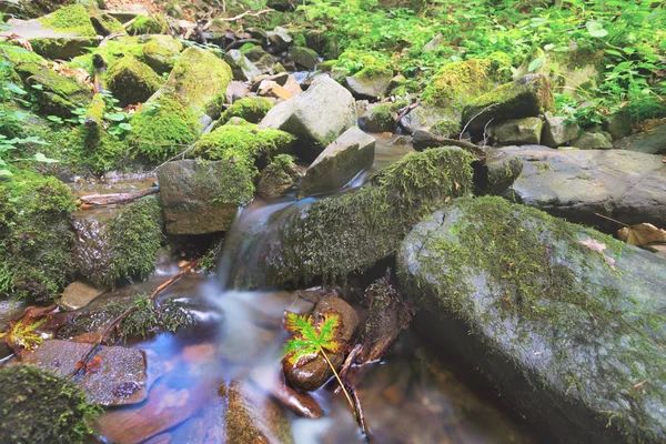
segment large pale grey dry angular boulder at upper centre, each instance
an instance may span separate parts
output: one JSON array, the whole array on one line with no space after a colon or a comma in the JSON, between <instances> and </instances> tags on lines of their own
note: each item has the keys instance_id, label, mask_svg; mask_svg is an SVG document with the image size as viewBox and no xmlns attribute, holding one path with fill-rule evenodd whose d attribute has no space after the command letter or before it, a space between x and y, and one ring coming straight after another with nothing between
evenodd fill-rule
<instances>
[{"instance_id":1,"label":"large pale grey dry angular boulder at upper centre","mask_svg":"<svg viewBox=\"0 0 666 444\"><path fill-rule=\"evenodd\" d=\"M296 135L296 153L314 160L329 143L355 124L352 94L335 80L320 77L304 93L274 107L259 125Z\"/></svg>"}]
</instances>

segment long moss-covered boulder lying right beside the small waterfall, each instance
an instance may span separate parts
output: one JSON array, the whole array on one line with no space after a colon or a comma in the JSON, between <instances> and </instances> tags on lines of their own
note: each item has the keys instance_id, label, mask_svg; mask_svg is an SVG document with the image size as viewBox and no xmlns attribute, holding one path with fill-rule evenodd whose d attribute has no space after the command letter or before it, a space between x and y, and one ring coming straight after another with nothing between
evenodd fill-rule
<instances>
[{"instance_id":1,"label":"long moss-covered boulder lying right beside the small waterfall","mask_svg":"<svg viewBox=\"0 0 666 444\"><path fill-rule=\"evenodd\" d=\"M413 224L472 190L472 158L457 148L410 153L353 192L291 205L271 230L246 236L235 287L326 282L363 272L395 252ZM231 250L233 254L233 249Z\"/></svg>"}]
</instances>

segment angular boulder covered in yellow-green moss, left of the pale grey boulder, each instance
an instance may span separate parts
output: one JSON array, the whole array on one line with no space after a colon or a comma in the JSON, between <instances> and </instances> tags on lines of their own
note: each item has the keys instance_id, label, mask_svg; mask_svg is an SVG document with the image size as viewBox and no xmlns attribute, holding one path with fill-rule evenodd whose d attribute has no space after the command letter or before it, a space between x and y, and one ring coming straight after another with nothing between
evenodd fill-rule
<instances>
[{"instance_id":1,"label":"angular boulder covered in yellow-green moss, left of the pale grey boulder","mask_svg":"<svg viewBox=\"0 0 666 444\"><path fill-rule=\"evenodd\" d=\"M183 107L216 119L232 79L229 64L213 51L192 47L180 56L162 91Z\"/></svg>"}]
</instances>

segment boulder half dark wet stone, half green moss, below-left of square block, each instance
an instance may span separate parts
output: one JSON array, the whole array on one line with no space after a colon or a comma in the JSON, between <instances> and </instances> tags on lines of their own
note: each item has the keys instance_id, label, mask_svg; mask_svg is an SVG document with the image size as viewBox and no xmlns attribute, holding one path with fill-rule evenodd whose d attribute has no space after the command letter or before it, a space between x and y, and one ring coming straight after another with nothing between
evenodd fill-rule
<instances>
[{"instance_id":1,"label":"boulder half dark wet stone, half green moss, below-left of square block","mask_svg":"<svg viewBox=\"0 0 666 444\"><path fill-rule=\"evenodd\" d=\"M148 279L155 269L162 225L155 196L127 204L108 221L77 221L72 256L78 273L98 286Z\"/></svg>"}]
</instances>

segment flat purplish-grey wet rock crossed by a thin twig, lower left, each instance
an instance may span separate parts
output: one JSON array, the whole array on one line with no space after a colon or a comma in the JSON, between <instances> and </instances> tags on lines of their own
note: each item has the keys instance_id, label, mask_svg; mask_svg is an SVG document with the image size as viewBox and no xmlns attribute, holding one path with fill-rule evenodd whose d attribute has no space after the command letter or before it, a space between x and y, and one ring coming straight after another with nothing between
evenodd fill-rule
<instances>
[{"instance_id":1,"label":"flat purplish-grey wet rock crossed by a thin twig, lower left","mask_svg":"<svg viewBox=\"0 0 666 444\"><path fill-rule=\"evenodd\" d=\"M40 369L67 376L90 349L89 344L50 340L23 360ZM138 349L102 346L93 354L85 372L74 379L88 401L99 405L138 404L148 397L145 356Z\"/></svg>"}]
</instances>

